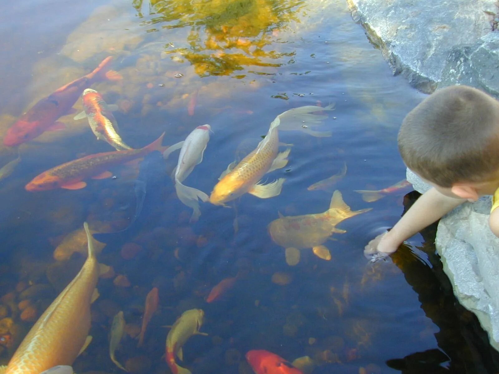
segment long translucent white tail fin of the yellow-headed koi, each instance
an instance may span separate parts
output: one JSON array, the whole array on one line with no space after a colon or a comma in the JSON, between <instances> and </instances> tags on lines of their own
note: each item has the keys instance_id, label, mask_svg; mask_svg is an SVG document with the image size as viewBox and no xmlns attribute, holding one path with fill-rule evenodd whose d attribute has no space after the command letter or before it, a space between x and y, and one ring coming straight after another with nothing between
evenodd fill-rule
<instances>
[{"instance_id":1,"label":"long translucent white tail fin of the yellow-headed koi","mask_svg":"<svg viewBox=\"0 0 499 374\"><path fill-rule=\"evenodd\" d=\"M284 113L279 114L270 124L270 130L279 126L279 130L291 131L299 130L305 131L309 127L320 125L322 120L326 119L327 116L323 114L311 114L323 110L333 110L334 104L329 104L325 108L321 108L315 105L305 105L298 108L293 108L286 110ZM330 132L323 132L325 135L321 135L320 131L309 131L310 135L313 136L331 136Z\"/></svg>"}]
</instances>

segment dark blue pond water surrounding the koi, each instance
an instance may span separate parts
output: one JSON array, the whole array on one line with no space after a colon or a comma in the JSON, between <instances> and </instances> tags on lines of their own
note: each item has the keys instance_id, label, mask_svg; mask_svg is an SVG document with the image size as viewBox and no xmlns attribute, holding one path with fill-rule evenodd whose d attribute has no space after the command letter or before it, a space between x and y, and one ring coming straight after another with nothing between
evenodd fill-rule
<instances>
[{"instance_id":1,"label":"dark blue pond water surrounding the koi","mask_svg":"<svg viewBox=\"0 0 499 374\"><path fill-rule=\"evenodd\" d=\"M252 373L245 355L257 349L290 362L308 355L314 374L499 371L475 316L452 295L433 231L388 261L370 264L363 255L415 197L404 198L405 187L367 202L355 190L405 178L397 131L425 96L392 75L345 1L30 0L2 10L1 137L38 100L113 56L123 78L92 88L118 106L123 141L141 148L165 132L169 146L209 124L203 161L184 183L210 194L277 115L305 105L334 104L334 111L316 112L327 118L314 128L331 136L310 134L306 123L279 131L279 141L292 144L279 148L290 148L289 161L262 180L285 178L277 196L245 193L228 207L207 201L197 222L170 178L178 152L115 165L113 178L85 179L84 188L27 191L38 174L113 148L97 141L86 119L65 113L65 127L18 147L1 145L0 165L20 161L0 180L0 364L81 268L87 221L93 232L116 233L96 235L106 242L97 259L112 270L98 280L93 339L75 373L121 372L109 358L119 311L126 327L116 359L131 373L169 373L164 326L193 308L204 311L208 336L190 338L177 363L194 374ZM81 98L73 107L83 110ZM344 165L331 186L307 189ZM316 250L301 249L299 262L288 265L296 250L274 242L268 225L280 214L323 213L335 189L352 210L372 209L336 224L345 232L323 242L329 260L313 244ZM207 302L224 279L229 286ZM153 287L159 305L139 347Z\"/></svg>"}]
</instances>

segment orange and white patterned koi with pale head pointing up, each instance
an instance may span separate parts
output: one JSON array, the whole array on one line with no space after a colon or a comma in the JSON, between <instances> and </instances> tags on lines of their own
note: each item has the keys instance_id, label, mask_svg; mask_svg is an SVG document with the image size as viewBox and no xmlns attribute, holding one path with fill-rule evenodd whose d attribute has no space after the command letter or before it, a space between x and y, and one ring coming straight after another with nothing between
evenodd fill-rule
<instances>
[{"instance_id":1,"label":"orange and white patterned koi with pale head pointing up","mask_svg":"<svg viewBox=\"0 0 499 374\"><path fill-rule=\"evenodd\" d=\"M83 91L83 108L85 110L77 114L74 119L79 120L86 117L97 140L107 142L116 151L132 149L121 140L116 132L118 124L111 111L118 109L117 105L107 105L97 91L87 88Z\"/></svg>"}]
</instances>

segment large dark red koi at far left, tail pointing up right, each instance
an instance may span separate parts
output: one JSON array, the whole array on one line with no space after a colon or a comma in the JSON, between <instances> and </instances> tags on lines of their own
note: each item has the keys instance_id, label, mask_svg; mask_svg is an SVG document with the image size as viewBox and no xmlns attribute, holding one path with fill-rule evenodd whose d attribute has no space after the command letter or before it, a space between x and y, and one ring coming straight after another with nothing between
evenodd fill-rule
<instances>
[{"instance_id":1,"label":"large dark red koi at far left, tail pointing up right","mask_svg":"<svg viewBox=\"0 0 499 374\"><path fill-rule=\"evenodd\" d=\"M64 128L64 124L56 122L57 119L70 114L72 106L85 88L105 79L122 78L117 72L109 70L111 60L112 56L107 57L91 73L58 88L38 101L7 130L3 144L16 146L36 138L45 131Z\"/></svg>"}]
</instances>

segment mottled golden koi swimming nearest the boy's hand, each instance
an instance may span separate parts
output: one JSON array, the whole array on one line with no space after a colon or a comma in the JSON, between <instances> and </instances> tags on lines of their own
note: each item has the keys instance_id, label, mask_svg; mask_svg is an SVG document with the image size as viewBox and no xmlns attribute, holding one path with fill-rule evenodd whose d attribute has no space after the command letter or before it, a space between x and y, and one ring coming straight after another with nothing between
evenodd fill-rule
<instances>
[{"instance_id":1,"label":"mottled golden koi swimming nearest the boy's hand","mask_svg":"<svg viewBox=\"0 0 499 374\"><path fill-rule=\"evenodd\" d=\"M305 214L285 217L279 213L279 218L268 225L272 240L286 248L286 262L296 265L299 262L298 249L312 248L317 257L331 259L329 250L322 245L334 232L345 233L336 228L341 221L364 213L372 208L352 211L336 190L331 198L329 209L323 213ZM293 260L290 260L290 259Z\"/></svg>"}]
</instances>

